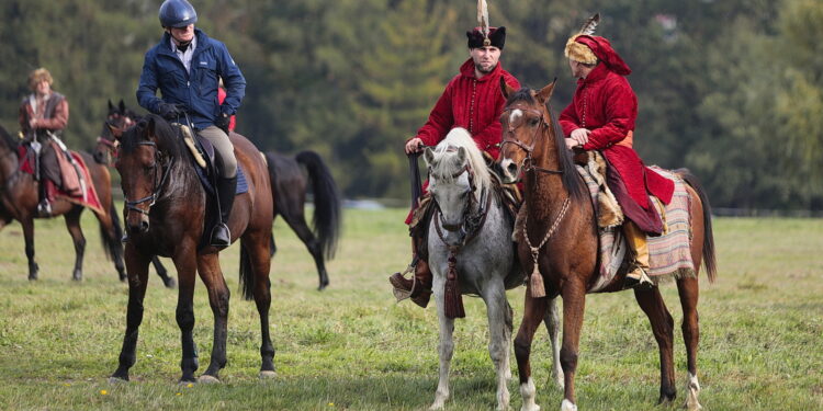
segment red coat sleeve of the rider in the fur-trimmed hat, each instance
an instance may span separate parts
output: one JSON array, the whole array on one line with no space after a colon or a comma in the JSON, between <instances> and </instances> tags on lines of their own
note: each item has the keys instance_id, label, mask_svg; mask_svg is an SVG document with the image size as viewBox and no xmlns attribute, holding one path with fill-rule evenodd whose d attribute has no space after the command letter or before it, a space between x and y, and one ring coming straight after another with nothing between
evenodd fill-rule
<instances>
[{"instance_id":1,"label":"red coat sleeve of the rider in the fur-trimmed hat","mask_svg":"<svg viewBox=\"0 0 823 411\"><path fill-rule=\"evenodd\" d=\"M612 81L604 90L606 124L591 130L584 150L600 150L619 142L634 129L638 117L638 98L624 78Z\"/></svg>"}]
</instances>

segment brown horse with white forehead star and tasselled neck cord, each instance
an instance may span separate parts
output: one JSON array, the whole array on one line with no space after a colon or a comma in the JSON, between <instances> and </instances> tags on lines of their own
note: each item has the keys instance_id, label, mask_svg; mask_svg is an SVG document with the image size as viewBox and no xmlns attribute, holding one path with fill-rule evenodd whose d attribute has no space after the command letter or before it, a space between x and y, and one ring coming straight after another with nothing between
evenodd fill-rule
<instances>
[{"instance_id":1,"label":"brown horse with white forehead star and tasselled neck cord","mask_svg":"<svg viewBox=\"0 0 823 411\"><path fill-rule=\"evenodd\" d=\"M561 410L576 410L574 378L583 312L588 286L598 273L595 210L583 179L575 170L571 151L566 149L563 134L548 109L554 82L539 91L516 91L505 82L501 82L500 88L508 101L501 116L504 138L498 162L505 180L511 182L522 175L523 206L528 210L523 236L531 239L531 244L540 244L540 239L545 239L543 246L538 246L538 264L545 284L546 297L532 297L531 285L528 286L523 320L515 340L520 392L523 397L522 409L539 409L534 403L535 388L529 364L531 343L534 331L545 316L550 298L560 295L563 297L563 345L560 357L565 375L565 395ZM690 196L691 258L696 267L694 277L677 279L684 312L683 334L689 373L686 406L689 409L699 409L697 273L700 262L703 261L709 281L714 281L714 243L709 202L702 189L688 171L680 170L677 174L687 182ZM527 241L519 241L518 252L520 261L532 261ZM617 288L607 290L619 290L620 287ZM674 320L656 286L651 289L636 288L634 297L649 317L659 347L659 402L669 402L676 393L673 359Z\"/></svg>"}]
</instances>

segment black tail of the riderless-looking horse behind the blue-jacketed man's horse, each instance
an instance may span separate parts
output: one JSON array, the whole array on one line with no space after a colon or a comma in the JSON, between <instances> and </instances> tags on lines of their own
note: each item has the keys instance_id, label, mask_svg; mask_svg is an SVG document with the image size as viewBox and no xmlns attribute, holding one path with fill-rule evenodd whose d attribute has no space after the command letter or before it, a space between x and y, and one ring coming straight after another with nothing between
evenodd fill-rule
<instances>
[{"instance_id":1,"label":"black tail of the riderless-looking horse behind the blue-jacketed man's horse","mask_svg":"<svg viewBox=\"0 0 823 411\"><path fill-rule=\"evenodd\" d=\"M306 167L314 192L312 225L327 259L335 256L340 235L340 194L331 172L314 151L301 151L294 159Z\"/></svg>"}]
</instances>

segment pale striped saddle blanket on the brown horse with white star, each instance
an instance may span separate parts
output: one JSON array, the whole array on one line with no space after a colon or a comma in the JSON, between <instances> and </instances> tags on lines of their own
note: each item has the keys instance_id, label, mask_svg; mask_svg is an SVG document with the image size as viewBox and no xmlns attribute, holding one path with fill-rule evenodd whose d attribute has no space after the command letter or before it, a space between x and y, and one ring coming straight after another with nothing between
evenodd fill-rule
<instances>
[{"instance_id":1,"label":"pale striped saddle blanket on the brown horse with white star","mask_svg":"<svg viewBox=\"0 0 823 411\"><path fill-rule=\"evenodd\" d=\"M675 192L672 202L661 213L663 220L663 235L659 237L646 237L649 244L649 276L657 283L664 276L676 278L695 275L695 264L691 261L691 225L689 214L689 193L686 183L668 170L654 167L661 175L675 182ZM589 172L577 165L577 172L586 181L595 205L598 204L597 195L599 185ZM661 204L651 197L652 204ZM589 288L589 293L597 293L607 288L618 272L628 269L627 259L631 258L623 232L620 226L599 228L599 252L600 265L599 277Z\"/></svg>"}]
</instances>

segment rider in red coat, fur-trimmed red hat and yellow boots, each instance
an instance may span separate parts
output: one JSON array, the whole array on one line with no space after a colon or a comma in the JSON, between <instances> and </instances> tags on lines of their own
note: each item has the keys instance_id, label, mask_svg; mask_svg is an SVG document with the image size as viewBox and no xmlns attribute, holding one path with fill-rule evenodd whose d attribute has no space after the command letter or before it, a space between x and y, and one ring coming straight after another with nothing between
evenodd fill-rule
<instances>
[{"instance_id":1,"label":"rider in red coat, fur-trimmed red hat and yellow boots","mask_svg":"<svg viewBox=\"0 0 823 411\"><path fill-rule=\"evenodd\" d=\"M566 146L599 150L606 157L607 183L627 217L623 232L635 255L627 287L651 284L646 233L659 236L663 222L649 195L668 204L674 183L646 168L632 148L638 98L625 79L631 69L609 41L578 34L566 43L565 55L578 79L574 99L560 116Z\"/></svg>"}]
</instances>

